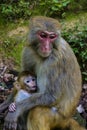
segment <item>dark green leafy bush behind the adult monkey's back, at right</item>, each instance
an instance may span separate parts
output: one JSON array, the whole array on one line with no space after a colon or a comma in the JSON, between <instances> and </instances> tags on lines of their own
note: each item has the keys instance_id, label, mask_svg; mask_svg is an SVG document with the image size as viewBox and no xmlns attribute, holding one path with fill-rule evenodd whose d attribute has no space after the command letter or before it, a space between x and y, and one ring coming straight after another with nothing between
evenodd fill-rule
<instances>
[{"instance_id":1,"label":"dark green leafy bush behind the adult monkey's back, at right","mask_svg":"<svg viewBox=\"0 0 87 130\"><path fill-rule=\"evenodd\" d=\"M64 29L62 35L73 48L81 66L83 81L87 82L87 26L79 29L79 25L76 25L74 28Z\"/></svg>"}]
</instances>

